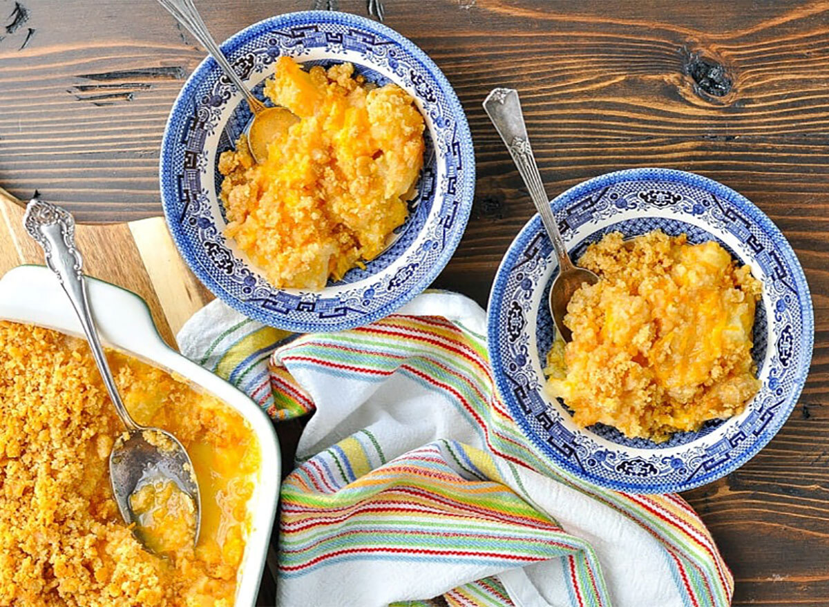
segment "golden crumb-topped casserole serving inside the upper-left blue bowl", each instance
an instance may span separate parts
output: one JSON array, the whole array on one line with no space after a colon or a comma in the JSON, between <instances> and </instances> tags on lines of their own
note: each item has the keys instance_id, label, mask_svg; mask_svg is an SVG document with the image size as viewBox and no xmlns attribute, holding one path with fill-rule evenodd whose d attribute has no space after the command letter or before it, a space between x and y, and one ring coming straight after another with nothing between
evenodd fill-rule
<instances>
[{"instance_id":1,"label":"golden crumb-topped casserole serving inside the upper-left blue bowl","mask_svg":"<svg viewBox=\"0 0 829 607\"><path fill-rule=\"evenodd\" d=\"M280 57L264 86L298 120L255 163L245 135L221 154L225 235L277 287L319 290L380 255L408 214L424 120L399 86L342 63L303 71Z\"/></svg>"}]
</instances>

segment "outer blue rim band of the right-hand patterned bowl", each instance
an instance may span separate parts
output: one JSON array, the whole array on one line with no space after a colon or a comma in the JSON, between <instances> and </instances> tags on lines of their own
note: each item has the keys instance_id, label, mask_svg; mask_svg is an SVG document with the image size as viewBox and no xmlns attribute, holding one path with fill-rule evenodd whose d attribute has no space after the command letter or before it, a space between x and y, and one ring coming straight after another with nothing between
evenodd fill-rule
<instances>
[{"instance_id":1,"label":"outer blue rim band of the right-hand patterned bowl","mask_svg":"<svg viewBox=\"0 0 829 607\"><path fill-rule=\"evenodd\" d=\"M789 402L785 412L781 410L778 412L778 415L774 415L772 422L769 424L770 430L766 432L763 436L759 437L759 439L757 439L754 442L754 444L751 445L750 449L746 449L744 453L741 454L738 458L731 460L727 465L725 465L721 469L718 469L715 476L703 477L700 479L691 479L691 481L687 482L660 483L658 485L648 485L647 483L642 483L638 485L628 484L600 477L594 473L588 473L586 471L578 469L578 467L574 466L573 464L570 464L570 462L565 459L560 459L559 457L553 456L551 452L548 449L546 449L540 437L538 437L536 433L531 431L531 428L529 427L529 423L527 422L527 420L522 415L518 415L518 413L516 412L517 404L512 402L511 398L508 397L509 386L507 385L506 378L501 371L502 358L500 353L498 352L498 348L494 346L494 344L497 342L497 337L499 334L497 311L500 310L500 305L498 304L498 301L502 299L502 291L505 287L505 280L508 272L508 269L506 267L507 257L510 254L510 251L513 249L513 247L516 246L516 243L519 240L525 238L527 234L542 231L541 218L538 215L538 213L534 214L530 217L528 221L526 221L524 226L521 227L521 230L511 241L509 247L507 248L507 251L504 253L502 260L498 265L495 278L492 280L492 288L490 289L489 299L487 301L487 353L489 355L490 364L492 365L492 376L495 379L498 396L501 398L503 402L507 404L507 407L510 410L511 415L516 419L516 423L521 429L521 434L524 435L527 439L530 439L532 446L535 448L536 454L545 459L545 461L565 469L567 473L571 473L577 478L584 479L589 483L594 483L599 487L613 489L615 491L642 494L676 493L680 491L686 491L691 488L700 487L707 483L711 483L715 481L717 478L722 478L725 475L734 472L734 470L739 469L745 463L747 463L749 459L754 458L756 454L758 454L762 449L764 449L768 442L771 439L773 439L775 435L778 434L778 431L786 423L792 411L794 410L794 407L797 405L799 396L802 392L803 387L806 384L807 374L812 361L812 349L814 345L813 303L811 292L806 279L806 274L803 272L800 260L797 259L797 254L795 253L792 245L790 245L786 237L783 236L783 232L779 230L778 226L776 226L773 223L773 221L771 221L771 219L769 219L768 216L758 206L754 204L754 202L749 201L748 198L744 197L739 192L736 192L731 187L728 187L723 183L717 182L714 179L711 179L710 177L704 177L695 172L681 171L672 168L642 167L622 169L619 171L607 172L596 177L591 177L587 180L584 180L583 182L579 182L575 186L568 188L567 190L565 190L565 192L561 192L558 196L550 200L550 206L553 208L553 211L560 211L561 208L563 208L567 202L577 200L580 197L583 197L584 194L588 192L592 192L595 189L616 182L633 179L649 181L659 179L662 181L669 182L680 182L686 184L690 183L691 185L701 187L702 189L705 189L708 192L712 192L719 197L729 200L730 202L734 202L736 206L739 206L743 208L744 211L747 211L752 216L752 219L756 221L764 229L764 231L768 233L776 247L782 248L785 252L789 254L788 256L791 262L792 270L796 274L795 282L797 284L798 293L800 294L798 301L802 299L802 301L805 302L805 305L801 307L802 357L800 360L802 362L800 362L800 366L802 367L802 373L800 373L799 376L797 376L796 385L793 386L793 390L789 392ZM575 244L578 245L579 243ZM568 245L568 248L571 249L572 246ZM690 446L695 442L696 439L691 440L686 445ZM617 450L622 449L624 449L623 445L617 445Z\"/></svg>"}]
</instances>

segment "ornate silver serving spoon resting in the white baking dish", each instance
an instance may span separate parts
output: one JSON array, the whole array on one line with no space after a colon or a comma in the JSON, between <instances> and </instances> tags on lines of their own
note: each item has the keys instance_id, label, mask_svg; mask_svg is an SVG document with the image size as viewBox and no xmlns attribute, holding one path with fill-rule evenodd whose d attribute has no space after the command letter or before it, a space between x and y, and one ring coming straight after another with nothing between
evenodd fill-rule
<instances>
[{"instance_id":1,"label":"ornate silver serving spoon resting in the white baking dish","mask_svg":"<svg viewBox=\"0 0 829 607\"><path fill-rule=\"evenodd\" d=\"M175 436L166 430L138 425L121 401L90 313L80 251L75 246L75 219L60 206L32 198L23 216L23 226L29 236L43 247L46 265L57 275L61 287L75 308L86 339L90 342L92 357L95 358L104 386L109 392L109 399L127 427L127 437L119 436L109 454L109 479L121 516L127 524L138 523L130 507L130 496L144 483L169 479L193 501L196 510L196 534L193 541L197 541L201 528L201 499L196 471L187 451ZM148 439L152 442L148 442ZM136 536L147 545L139 532Z\"/></svg>"}]
</instances>

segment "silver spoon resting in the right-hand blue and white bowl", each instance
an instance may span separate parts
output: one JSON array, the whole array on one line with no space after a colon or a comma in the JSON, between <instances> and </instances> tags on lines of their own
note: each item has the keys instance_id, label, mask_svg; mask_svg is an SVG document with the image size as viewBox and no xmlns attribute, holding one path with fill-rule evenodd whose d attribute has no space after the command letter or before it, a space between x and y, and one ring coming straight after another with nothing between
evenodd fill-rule
<instances>
[{"instance_id":1,"label":"silver spoon resting in the right-hand blue and white bowl","mask_svg":"<svg viewBox=\"0 0 829 607\"><path fill-rule=\"evenodd\" d=\"M483 102L483 109L487 112L492 124L510 152L516 163L521 179L524 180L533 204L536 205L541 223L544 224L547 235L553 243L555 254L559 258L559 275L555 277L550 288L550 314L553 316L555 328L560 336L569 342L573 337L570 329L565 327L565 314L570 298L582 284L595 284L599 276L590 270L584 270L573 264L567 254L565 242L561 239L559 227L555 223L555 216L550 208L550 199L541 183L536 158L532 155L530 139L526 134L524 114L521 112L521 102L518 100L518 91L514 89L493 89Z\"/></svg>"}]
</instances>

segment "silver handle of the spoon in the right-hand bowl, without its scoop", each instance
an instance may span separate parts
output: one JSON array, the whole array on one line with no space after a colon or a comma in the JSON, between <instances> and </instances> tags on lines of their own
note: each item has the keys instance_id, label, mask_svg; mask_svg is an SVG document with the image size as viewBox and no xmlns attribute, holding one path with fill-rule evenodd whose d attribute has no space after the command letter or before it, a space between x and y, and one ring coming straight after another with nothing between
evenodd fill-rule
<instances>
[{"instance_id":1,"label":"silver handle of the spoon in the right-hand bowl, without its scoop","mask_svg":"<svg viewBox=\"0 0 829 607\"><path fill-rule=\"evenodd\" d=\"M526 134L526 124L524 124L524 114L521 112L521 101L518 100L518 91L493 89L483 101L483 109L507 145L512 161L516 163L521 179L530 191L532 202L536 205L538 214L541 215L541 222L550 240L553 241L561 271L570 270L574 267L573 262L570 261L570 255L567 255L565 242L561 239L559 226L550 209L550 198L547 197L547 192L541 183L536 158L530 147L530 138Z\"/></svg>"}]
</instances>

